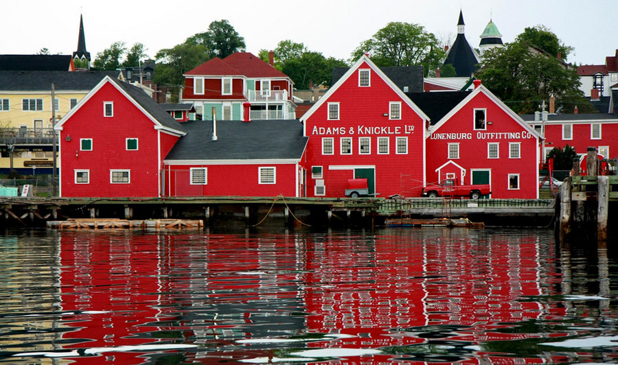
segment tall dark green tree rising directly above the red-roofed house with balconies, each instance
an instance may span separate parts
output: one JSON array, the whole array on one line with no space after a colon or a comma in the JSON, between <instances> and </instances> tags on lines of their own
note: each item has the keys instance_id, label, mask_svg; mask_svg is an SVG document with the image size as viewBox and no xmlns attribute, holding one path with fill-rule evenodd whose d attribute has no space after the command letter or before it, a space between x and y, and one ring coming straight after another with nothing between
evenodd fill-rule
<instances>
[{"instance_id":1,"label":"tall dark green tree rising directly above the red-roofed house with balconies","mask_svg":"<svg viewBox=\"0 0 618 365\"><path fill-rule=\"evenodd\" d=\"M202 45L208 59L226 58L235 52L244 51L245 48L244 38L225 19L213 21L206 32L190 36L185 43Z\"/></svg>"}]
</instances>

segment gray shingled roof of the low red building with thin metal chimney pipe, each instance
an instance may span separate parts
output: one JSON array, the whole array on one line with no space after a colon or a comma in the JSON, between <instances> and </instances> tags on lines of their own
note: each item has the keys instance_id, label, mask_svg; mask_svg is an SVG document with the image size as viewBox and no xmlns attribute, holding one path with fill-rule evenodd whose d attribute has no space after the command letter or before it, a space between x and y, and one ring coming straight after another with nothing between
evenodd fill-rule
<instances>
[{"instance_id":1,"label":"gray shingled roof of the low red building with thin metal chimney pipe","mask_svg":"<svg viewBox=\"0 0 618 365\"><path fill-rule=\"evenodd\" d=\"M218 141L212 141L212 121L183 123L187 135L165 157L169 160L300 159L308 137L297 120L217 121Z\"/></svg>"}]
</instances>

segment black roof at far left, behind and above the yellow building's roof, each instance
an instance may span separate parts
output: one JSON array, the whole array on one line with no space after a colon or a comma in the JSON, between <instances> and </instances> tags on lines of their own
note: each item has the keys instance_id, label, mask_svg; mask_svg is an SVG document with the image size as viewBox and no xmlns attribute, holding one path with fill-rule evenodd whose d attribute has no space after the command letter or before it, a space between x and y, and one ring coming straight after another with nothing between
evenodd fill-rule
<instances>
[{"instance_id":1,"label":"black roof at far left, behind and above the yellow building's roof","mask_svg":"<svg viewBox=\"0 0 618 365\"><path fill-rule=\"evenodd\" d=\"M0 54L4 71L69 71L71 56L61 54Z\"/></svg>"}]
</instances>

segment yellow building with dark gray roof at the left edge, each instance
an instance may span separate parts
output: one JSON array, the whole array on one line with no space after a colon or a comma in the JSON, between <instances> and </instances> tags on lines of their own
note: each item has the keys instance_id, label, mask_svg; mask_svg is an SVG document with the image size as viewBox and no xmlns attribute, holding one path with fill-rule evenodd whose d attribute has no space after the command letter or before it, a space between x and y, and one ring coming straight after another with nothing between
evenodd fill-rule
<instances>
[{"instance_id":1,"label":"yellow building with dark gray roof at the left edge","mask_svg":"<svg viewBox=\"0 0 618 365\"><path fill-rule=\"evenodd\" d=\"M52 170L52 84L56 121L109 75L120 71L0 71L0 173Z\"/></svg>"}]
</instances>

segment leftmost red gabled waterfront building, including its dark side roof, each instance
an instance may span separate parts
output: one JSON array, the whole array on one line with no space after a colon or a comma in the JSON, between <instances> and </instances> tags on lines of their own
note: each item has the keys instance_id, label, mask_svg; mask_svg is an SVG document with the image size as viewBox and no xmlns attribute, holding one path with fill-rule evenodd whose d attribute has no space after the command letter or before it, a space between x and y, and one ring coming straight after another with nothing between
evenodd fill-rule
<instances>
[{"instance_id":1,"label":"leftmost red gabled waterfront building, including its dark side roof","mask_svg":"<svg viewBox=\"0 0 618 365\"><path fill-rule=\"evenodd\" d=\"M144 91L109 77L56 130L65 197L161 196L163 158L185 134Z\"/></svg>"}]
</instances>

